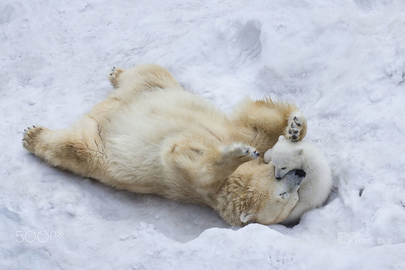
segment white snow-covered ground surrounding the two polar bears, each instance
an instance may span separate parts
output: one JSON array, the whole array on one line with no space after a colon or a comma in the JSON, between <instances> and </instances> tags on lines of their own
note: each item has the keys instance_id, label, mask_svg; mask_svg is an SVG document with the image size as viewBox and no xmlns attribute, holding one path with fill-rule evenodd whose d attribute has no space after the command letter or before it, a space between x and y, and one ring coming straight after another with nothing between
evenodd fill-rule
<instances>
[{"instance_id":1,"label":"white snow-covered ground surrounding the two polar bears","mask_svg":"<svg viewBox=\"0 0 405 270\"><path fill-rule=\"evenodd\" d=\"M0 269L405 267L403 0L0 2ZM333 169L301 222L227 225L210 208L116 191L30 155L154 62L229 111L296 103Z\"/></svg>"}]
</instances>

